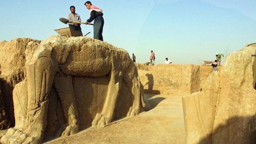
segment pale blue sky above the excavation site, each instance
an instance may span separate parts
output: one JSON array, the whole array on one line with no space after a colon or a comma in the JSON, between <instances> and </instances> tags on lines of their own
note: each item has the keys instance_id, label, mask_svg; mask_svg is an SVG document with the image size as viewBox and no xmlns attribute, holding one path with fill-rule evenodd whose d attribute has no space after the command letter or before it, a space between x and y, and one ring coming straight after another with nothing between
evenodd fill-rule
<instances>
[{"instance_id":1,"label":"pale blue sky above the excavation site","mask_svg":"<svg viewBox=\"0 0 256 144\"><path fill-rule=\"evenodd\" d=\"M156 63L169 57L174 63L200 64L215 53L235 52L256 42L256 2L252 0L130 0L91 1L104 12L104 41L135 53L148 62L154 50ZM18 37L44 40L75 5L82 21L89 18L85 1L0 1L0 41ZM91 25L82 32L92 36Z\"/></svg>"}]
</instances>

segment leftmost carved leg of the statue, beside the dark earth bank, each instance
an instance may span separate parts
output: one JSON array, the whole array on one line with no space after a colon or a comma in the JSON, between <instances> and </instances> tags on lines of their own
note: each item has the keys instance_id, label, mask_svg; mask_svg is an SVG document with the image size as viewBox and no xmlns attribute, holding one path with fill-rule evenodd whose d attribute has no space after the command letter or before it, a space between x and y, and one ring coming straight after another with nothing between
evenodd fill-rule
<instances>
[{"instance_id":1,"label":"leftmost carved leg of the statue, beside the dark earth bank","mask_svg":"<svg viewBox=\"0 0 256 144\"><path fill-rule=\"evenodd\" d=\"M1 138L0 142L8 143L8 140L17 130L22 130L25 118L27 117L27 79L15 85L12 92L14 101L15 126L8 129L7 133Z\"/></svg>"}]
</instances>

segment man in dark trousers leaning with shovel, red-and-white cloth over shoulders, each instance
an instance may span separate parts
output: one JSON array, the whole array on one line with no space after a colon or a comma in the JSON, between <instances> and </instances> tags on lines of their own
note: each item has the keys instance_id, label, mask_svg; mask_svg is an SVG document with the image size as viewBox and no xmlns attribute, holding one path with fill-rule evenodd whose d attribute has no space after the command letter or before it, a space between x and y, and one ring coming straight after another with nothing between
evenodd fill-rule
<instances>
[{"instance_id":1,"label":"man in dark trousers leaning with shovel, red-and-white cloth over shoulders","mask_svg":"<svg viewBox=\"0 0 256 144\"><path fill-rule=\"evenodd\" d=\"M90 1L85 2L85 7L89 9L91 15L91 17L85 21L85 24L91 23L94 20L94 39L103 41L103 11L95 5L92 5Z\"/></svg>"}]
</instances>

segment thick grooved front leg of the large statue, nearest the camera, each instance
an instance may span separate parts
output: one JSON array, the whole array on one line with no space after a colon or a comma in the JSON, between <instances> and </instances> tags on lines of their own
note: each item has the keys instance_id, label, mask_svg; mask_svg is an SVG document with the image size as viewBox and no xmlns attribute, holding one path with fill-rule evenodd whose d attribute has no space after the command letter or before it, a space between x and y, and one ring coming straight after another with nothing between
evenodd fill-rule
<instances>
[{"instance_id":1,"label":"thick grooved front leg of the large statue, nearest the camera","mask_svg":"<svg viewBox=\"0 0 256 144\"><path fill-rule=\"evenodd\" d=\"M40 143L47 124L50 89L57 65L48 57L40 57L26 65L28 106L22 130L17 130L8 143Z\"/></svg>"}]
</instances>

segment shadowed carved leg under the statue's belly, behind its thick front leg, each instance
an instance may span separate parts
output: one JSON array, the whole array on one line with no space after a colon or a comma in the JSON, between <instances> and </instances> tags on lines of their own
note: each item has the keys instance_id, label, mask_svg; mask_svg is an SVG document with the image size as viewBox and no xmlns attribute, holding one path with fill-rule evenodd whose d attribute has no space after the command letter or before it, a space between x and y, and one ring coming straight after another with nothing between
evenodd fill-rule
<instances>
[{"instance_id":1,"label":"shadowed carved leg under the statue's belly, behind its thick front leg","mask_svg":"<svg viewBox=\"0 0 256 144\"><path fill-rule=\"evenodd\" d=\"M68 126L62 136L69 136L79 132L78 111L76 108L75 93L73 91L72 76L62 73L55 76L54 86L60 97L63 112Z\"/></svg>"}]
</instances>

